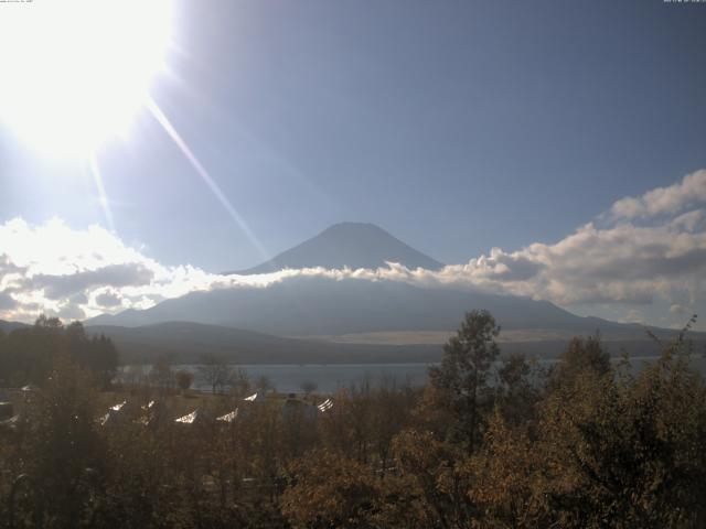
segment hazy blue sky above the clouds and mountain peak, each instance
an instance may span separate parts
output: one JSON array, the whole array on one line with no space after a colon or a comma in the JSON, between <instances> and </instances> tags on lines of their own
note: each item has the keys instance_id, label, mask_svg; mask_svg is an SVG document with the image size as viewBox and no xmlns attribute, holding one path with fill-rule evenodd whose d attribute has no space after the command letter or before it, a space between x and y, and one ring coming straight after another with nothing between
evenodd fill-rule
<instances>
[{"instance_id":1,"label":"hazy blue sky above the clouds and mountain peak","mask_svg":"<svg viewBox=\"0 0 706 529\"><path fill-rule=\"evenodd\" d=\"M152 96L266 252L360 220L463 263L557 242L706 168L706 4L208 0L175 13ZM127 245L212 272L263 260L147 111L98 161ZM109 228L85 166L8 128L0 175L0 223Z\"/></svg>"}]
</instances>

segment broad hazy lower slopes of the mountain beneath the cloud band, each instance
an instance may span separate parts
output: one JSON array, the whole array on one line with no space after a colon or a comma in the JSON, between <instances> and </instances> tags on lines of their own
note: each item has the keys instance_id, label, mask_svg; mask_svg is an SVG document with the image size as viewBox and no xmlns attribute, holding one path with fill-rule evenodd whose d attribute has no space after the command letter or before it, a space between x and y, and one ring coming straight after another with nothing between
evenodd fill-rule
<instances>
[{"instance_id":1,"label":"broad hazy lower slopes of the mountain beneath the cloud band","mask_svg":"<svg viewBox=\"0 0 706 529\"><path fill-rule=\"evenodd\" d=\"M472 309L490 310L504 328L643 334L639 325L581 317L546 301L396 281L290 278L267 288L194 292L146 311L89 320L92 325L139 326L170 321L247 328L279 336L381 331L452 331Z\"/></svg>"}]
</instances>

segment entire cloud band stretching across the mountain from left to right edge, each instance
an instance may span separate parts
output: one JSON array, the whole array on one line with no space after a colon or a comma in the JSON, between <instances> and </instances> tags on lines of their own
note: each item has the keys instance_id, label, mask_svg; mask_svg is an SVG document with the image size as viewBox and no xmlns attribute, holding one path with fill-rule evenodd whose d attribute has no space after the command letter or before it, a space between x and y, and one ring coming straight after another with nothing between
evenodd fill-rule
<instances>
[{"instance_id":1,"label":"entire cloud band stretching across the mountain from left to right edge","mask_svg":"<svg viewBox=\"0 0 706 529\"><path fill-rule=\"evenodd\" d=\"M506 293L565 307L612 311L639 320L663 305L676 324L704 309L706 287L706 171L642 196L625 197L554 242L489 255L438 271L397 263L378 269L306 268L260 276L222 276L185 264L168 267L98 226L72 229L61 219L0 226L0 317L32 320L40 313L90 317L147 309L164 299L218 288L267 288L297 276L404 281ZM703 312L703 311L702 311Z\"/></svg>"}]
</instances>

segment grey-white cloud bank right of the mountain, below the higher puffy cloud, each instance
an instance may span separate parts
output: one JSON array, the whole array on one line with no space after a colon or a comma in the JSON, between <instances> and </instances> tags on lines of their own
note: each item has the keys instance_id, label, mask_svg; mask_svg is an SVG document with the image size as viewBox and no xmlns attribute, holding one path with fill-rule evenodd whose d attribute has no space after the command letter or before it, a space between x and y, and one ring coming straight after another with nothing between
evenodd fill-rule
<instances>
[{"instance_id":1,"label":"grey-white cloud bank right of the mountain, below the higher puffy cloud","mask_svg":"<svg viewBox=\"0 0 706 529\"><path fill-rule=\"evenodd\" d=\"M527 273L533 266L536 273ZM537 242L514 252L493 249L490 256L447 267L441 276L564 305L648 304L655 296L671 299L676 291L699 298L706 278L706 233L671 225L589 224L557 244Z\"/></svg>"}]
</instances>

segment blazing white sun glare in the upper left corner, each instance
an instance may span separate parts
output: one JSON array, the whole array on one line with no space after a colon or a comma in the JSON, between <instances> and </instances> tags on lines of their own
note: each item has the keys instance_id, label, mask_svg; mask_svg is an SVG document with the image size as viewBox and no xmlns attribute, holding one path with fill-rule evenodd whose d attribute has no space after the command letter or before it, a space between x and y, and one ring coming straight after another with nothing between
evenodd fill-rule
<instances>
[{"instance_id":1,"label":"blazing white sun glare in the upper left corner","mask_svg":"<svg viewBox=\"0 0 706 529\"><path fill-rule=\"evenodd\" d=\"M41 150L127 134L164 67L171 0L34 0L0 10L0 120Z\"/></svg>"}]
</instances>

